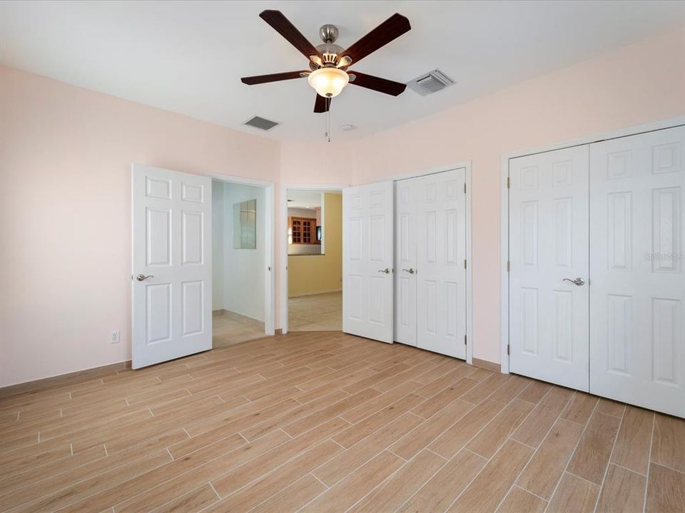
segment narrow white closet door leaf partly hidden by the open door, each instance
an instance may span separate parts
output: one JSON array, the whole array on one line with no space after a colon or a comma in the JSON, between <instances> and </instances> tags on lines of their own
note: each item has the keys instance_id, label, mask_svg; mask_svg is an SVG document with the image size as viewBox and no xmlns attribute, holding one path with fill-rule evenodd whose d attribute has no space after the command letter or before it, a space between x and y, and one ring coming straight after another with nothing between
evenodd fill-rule
<instances>
[{"instance_id":1,"label":"narrow white closet door leaf partly hidden by the open door","mask_svg":"<svg viewBox=\"0 0 685 513\"><path fill-rule=\"evenodd\" d=\"M395 182L395 341L416 346L414 179Z\"/></svg>"}]
</instances>

